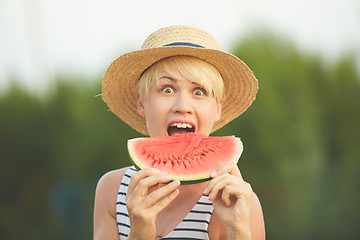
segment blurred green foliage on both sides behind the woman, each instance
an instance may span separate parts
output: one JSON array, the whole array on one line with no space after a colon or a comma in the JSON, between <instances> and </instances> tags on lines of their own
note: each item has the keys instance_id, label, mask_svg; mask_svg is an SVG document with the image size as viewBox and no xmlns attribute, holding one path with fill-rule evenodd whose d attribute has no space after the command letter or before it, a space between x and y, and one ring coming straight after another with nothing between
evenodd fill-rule
<instances>
[{"instance_id":1,"label":"blurred green foliage on both sides behind the woman","mask_svg":"<svg viewBox=\"0 0 360 240\"><path fill-rule=\"evenodd\" d=\"M254 34L233 53L260 82L252 107L215 135L244 142L239 167L264 211L267 239L360 239L360 76ZM104 69L105 71L105 69ZM0 95L0 239L91 239L94 191L129 165L141 136L107 111L95 83L59 77L46 96Z\"/></svg>"}]
</instances>

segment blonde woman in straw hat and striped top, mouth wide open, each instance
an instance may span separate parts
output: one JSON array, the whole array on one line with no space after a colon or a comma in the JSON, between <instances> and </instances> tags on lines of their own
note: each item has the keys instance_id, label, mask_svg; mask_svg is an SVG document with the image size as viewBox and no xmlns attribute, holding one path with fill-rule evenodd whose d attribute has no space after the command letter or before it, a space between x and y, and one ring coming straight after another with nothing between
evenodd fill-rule
<instances>
[{"instance_id":1,"label":"blonde woman in straw hat and striped top, mouth wide open","mask_svg":"<svg viewBox=\"0 0 360 240\"><path fill-rule=\"evenodd\" d=\"M258 83L248 67L220 50L206 32L172 26L151 34L142 50L120 56L103 79L109 108L153 136L209 135L244 112ZM156 169L129 167L99 181L95 239L265 239L261 205L238 167L208 182L169 184Z\"/></svg>"}]
</instances>

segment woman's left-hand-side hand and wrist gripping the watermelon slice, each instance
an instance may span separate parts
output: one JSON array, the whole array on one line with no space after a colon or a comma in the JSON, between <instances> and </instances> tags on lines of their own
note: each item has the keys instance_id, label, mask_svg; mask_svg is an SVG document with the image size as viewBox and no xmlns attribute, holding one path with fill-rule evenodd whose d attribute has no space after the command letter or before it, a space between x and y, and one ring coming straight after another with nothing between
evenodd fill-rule
<instances>
[{"instance_id":1,"label":"woman's left-hand-side hand and wrist gripping the watermelon slice","mask_svg":"<svg viewBox=\"0 0 360 240\"><path fill-rule=\"evenodd\" d=\"M132 175L126 195L126 207L130 218L130 234L128 239L154 239L156 234L156 218L179 193L179 181L163 185L150 193L149 188L168 183L169 176L156 169L143 169Z\"/></svg>"}]
</instances>

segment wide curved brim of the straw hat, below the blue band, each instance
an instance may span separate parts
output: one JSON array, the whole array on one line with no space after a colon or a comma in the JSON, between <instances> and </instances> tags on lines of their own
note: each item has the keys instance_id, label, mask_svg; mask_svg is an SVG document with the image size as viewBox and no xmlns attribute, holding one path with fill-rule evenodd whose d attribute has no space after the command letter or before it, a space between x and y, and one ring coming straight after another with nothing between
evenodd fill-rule
<instances>
[{"instance_id":1,"label":"wide curved brim of the straw hat, below the blue band","mask_svg":"<svg viewBox=\"0 0 360 240\"><path fill-rule=\"evenodd\" d=\"M111 63L102 82L103 99L110 110L136 131L148 135L146 120L137 112L136 82L155 62L171 56L202 59L220 72L224 80L225 98L221 118L212 132L241 115L254 101L258 81L248 66L236 56L215 49L169 46L126 53Z\"/></svg>"}]
</instances>

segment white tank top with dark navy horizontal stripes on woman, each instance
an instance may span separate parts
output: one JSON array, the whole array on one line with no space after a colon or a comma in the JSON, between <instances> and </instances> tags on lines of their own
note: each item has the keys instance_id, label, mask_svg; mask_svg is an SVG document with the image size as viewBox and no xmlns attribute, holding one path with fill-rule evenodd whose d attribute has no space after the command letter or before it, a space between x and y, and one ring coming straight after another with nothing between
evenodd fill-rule
<instances>
[{"instance_id":1,"label":"white tank top with dark navy horizontal stripes on woman","mask_svg":"<svg viewBox=\"0 0 360 240\"><path fill-rule=\"evenodd\" d=\"M125 172L118 192L116 201L116 221L119 229L120 240L126 239L130 233L130 220L126 208L125 197L128 191L131 175L136 171L135 167L132 166ZM208 196L202 195L182 222L179 223L172 232L161 239L209 239L207 228L212 211L212 202L208 199Z\"/></svg>"}]
</instances>

